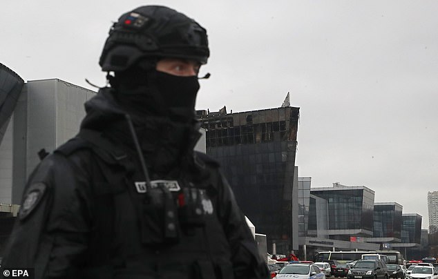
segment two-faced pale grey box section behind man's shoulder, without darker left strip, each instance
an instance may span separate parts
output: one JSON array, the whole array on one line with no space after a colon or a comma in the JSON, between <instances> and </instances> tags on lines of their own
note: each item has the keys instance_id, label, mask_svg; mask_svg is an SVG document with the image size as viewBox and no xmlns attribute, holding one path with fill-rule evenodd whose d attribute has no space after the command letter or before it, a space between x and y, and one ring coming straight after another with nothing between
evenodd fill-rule
<instances>
[{"instance_id":1,"label":"two-faced pale grey box section behind man's shoulder, without darker left strip","mask_svg":"<svg viewBox=\"0 0 438 279\"><path fill-rule=\"evenodd\" d=\"M28 81L29 177L39 163L41 148L54 151L79 131L85 117L84 103L95 93L60 79Z\"/></svg>"}]
</instances>

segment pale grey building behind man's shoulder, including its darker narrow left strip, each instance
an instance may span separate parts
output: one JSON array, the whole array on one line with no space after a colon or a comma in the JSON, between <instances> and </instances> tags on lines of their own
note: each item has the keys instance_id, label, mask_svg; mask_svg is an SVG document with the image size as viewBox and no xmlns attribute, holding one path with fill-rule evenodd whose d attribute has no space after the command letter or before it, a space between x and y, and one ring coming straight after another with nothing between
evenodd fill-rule
<instances>
[{"instance_id":1,"label":"pale grey building behind man's shoulder, including its darker narrow left strip","mask_svg":"<svg viewBox=\"0 0 438 279\"><path fill-rule=\"evenodd\" d=\"M86 115L84 103L94 95L92 90L60 79L26 83L22 103L15 110L19 115L13 141L24 142L13 152L13 191L9 191L13 203L21 200L26 180L40 162L38 152L44 148L51 153L77 134Z\"/></svg>"}]
</instances>

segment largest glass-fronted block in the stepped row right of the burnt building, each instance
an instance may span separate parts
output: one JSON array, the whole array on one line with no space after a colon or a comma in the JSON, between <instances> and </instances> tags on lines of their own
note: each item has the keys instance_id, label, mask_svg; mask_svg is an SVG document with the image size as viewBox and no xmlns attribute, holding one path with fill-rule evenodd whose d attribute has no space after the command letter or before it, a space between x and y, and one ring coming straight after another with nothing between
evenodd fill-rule
<instances>
[{"instance_id":1,"label":"largest glass-fronted block in the stepped row right of the burnt building","mask_svg":"<svg viewBox=\"0 0 438 279\"><path fill-rule=\"evenodd\" d=\"M327 200L330 239L350 241L352 237L371 237L374 191L365 186L312 188L312 195Z\"/></svg>"}]
</instances>

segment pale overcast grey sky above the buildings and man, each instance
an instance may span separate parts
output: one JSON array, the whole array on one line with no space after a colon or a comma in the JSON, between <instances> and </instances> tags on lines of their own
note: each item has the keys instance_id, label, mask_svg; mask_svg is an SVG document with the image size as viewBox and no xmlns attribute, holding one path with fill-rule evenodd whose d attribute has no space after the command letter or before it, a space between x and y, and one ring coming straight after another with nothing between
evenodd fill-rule
<instances>
[{"instance_id":1,"label":"pale overcast grey sky above the buildings and man","mask_svg":"<svg viewBox=\"0 0 438 279\"><path fill-rule=\"evenodd\" d=\"M95 90L108 30L169 6L209 35L196 109L300 108L296 165L312 187L363 185L423 216L438 191L438 1L3 0L0 63L25 81Z\"/></svg>"}]
</instances>

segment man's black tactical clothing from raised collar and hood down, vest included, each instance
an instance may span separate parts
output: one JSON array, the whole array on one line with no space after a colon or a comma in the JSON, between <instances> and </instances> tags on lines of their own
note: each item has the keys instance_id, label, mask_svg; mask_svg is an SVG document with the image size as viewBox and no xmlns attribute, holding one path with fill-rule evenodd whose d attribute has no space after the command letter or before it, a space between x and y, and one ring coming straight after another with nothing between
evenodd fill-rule
<instances>
[{"instance_id":1,"label":"man's black tactical clothing from raised collar and hood down, vest included","mask_svg":"<svg viewBox=\"0 0 438 279\"><path fill-rule=\"evenodd\" d=\"M112 96L87 102L79 134L30 176L2 267L35 267L35 278L267 278L217 162L192 151L194 126L133 116L145 174Z\"/></svg>"}]
</instances>

